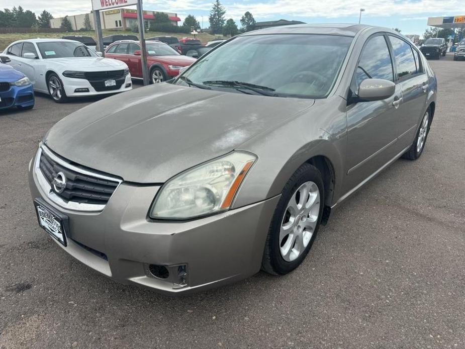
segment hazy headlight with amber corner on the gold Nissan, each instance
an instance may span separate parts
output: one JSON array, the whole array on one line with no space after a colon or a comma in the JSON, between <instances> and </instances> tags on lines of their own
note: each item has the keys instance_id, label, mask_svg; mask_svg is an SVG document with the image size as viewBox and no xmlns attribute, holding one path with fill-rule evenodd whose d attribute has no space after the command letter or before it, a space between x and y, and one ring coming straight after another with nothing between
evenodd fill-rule
<instances>
[{"instance_id":1,"label":"hazy headlight with amber corner on the gold Nissan","mask_svg":"<svg viewBox=\"0 0 465 349\"><path fill-rule=\"evenodd\" d=\"M180 173L160 189L155 219L188 219L228 210L256 156L235 151Z\"/></svg>"}]
</instances>

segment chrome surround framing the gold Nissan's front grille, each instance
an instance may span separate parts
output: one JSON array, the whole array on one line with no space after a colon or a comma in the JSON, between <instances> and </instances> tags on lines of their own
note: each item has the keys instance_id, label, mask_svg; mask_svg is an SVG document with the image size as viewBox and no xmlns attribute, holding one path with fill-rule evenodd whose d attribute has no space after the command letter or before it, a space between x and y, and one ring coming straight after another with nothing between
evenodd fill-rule
<instances>
[{"instance_id":1,"label":"chrome surround framing the gold Nissan's front grille","mask_svg":"<svg viewBox=\"0 0 465 349\"><path fill-rule=\"evenodd\" d=\"M51 185L48 183L48 181L45 179L45 176L43 175L41 169L40 169L40 158L42 156L42 152L47 154L53 161L59 163L63 167L66 167L70 170L76 171L78 173L82 173L83 175L103 179L103 180L108 180L108 181L113 181L117 182L118 185L115 188L115 191L113 194L116 192L116 190L119 188L120 184L123 182L122 180L115 178L115 177L109 177L109 176L104 176L100 175L99 173L94 173L82 168L79 168L77 166L71 165L67 163L66 161L63 161L61 158L53 154L45 145L41 144L39 146L39 149L37 150L36 154L36 159L34 161L34 172L37 178L37 181L39 183L40 188L43 190L44 194L47 196L48 199L50 199L53 203L57 204L58 206L70 210L70 211L81 211L81 212L101 212L104 210L104 208L107 206L106 204L88 204L88 203L79 203L75 201L66 201L62 198L60 198L58 195L56 195L53 190ZM109 201L111 200L110 197Z\"/></svg>"}]
</instances>

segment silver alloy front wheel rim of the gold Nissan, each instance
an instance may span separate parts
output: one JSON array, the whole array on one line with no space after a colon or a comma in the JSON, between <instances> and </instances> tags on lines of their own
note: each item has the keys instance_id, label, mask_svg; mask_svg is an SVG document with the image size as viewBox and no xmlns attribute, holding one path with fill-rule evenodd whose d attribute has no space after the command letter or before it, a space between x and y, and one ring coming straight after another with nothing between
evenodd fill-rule
<instances>
[{"instance_id":1,"label":"silver alloy front wheel rim of the gold Nissan","mask_svg":"<svg viewBox=\"0 0 465 349\"><path fill-rule=\"evenodd\" d=\"M305 250L315 231L320 212L320 191L314 182L305 182L291 196L281 223L280 252L293 261Z\"/></svg>"}]
</instances>

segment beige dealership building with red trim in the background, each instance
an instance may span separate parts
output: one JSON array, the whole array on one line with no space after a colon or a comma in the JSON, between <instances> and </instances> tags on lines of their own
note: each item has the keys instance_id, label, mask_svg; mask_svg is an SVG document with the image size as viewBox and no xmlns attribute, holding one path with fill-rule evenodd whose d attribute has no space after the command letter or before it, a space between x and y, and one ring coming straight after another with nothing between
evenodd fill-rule
<instances>
[{"instance_id":1,"label":"beige dealership building with red trim in the background","mask_svg":"<svg viewBox=\"0 0 465 349\"><path fill-rule=\"evenodd\" d=\"M157 11L144 11L144 23L146 28L149 28L150 24L155 22L155 13L157 13ZM181 21L175 13L165 12L165 14L168 15L169 22L173 26L177 26L177 23ZM86 15L89 16L92 28L95 28L94 14L88 13L68 16L68 20L71 22L73 30L84 28L84 18ZM60 28L63 18L64 17L51 19L50 28ZM137 11L133 9L100 11L100 21L102 23L102 29L131 29L135 24L137 24Z\"/></svg>"}]
</instances>

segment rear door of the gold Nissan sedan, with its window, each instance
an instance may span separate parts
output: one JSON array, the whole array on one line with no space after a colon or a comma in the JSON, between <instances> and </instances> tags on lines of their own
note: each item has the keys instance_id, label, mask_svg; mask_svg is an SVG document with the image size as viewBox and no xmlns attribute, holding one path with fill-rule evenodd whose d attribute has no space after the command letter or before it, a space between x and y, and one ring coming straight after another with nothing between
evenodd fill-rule
<instances>
[{"instance_id":1,"label":"rear door of the gold Nissan sedan, with its window","mask_svg":"<svg viewBox=\"0 0 465 349\"><path fill-rule=\"evenodd\" d=\"M417 131L417 125L426 109L428 77L420 65L416 49L400 37L389 35L396 61L397 84L402 89L402 106L397 128L398 148L407 147ZM416 53L416 57L415 57Z\"/></svg>"}]
</instances>

